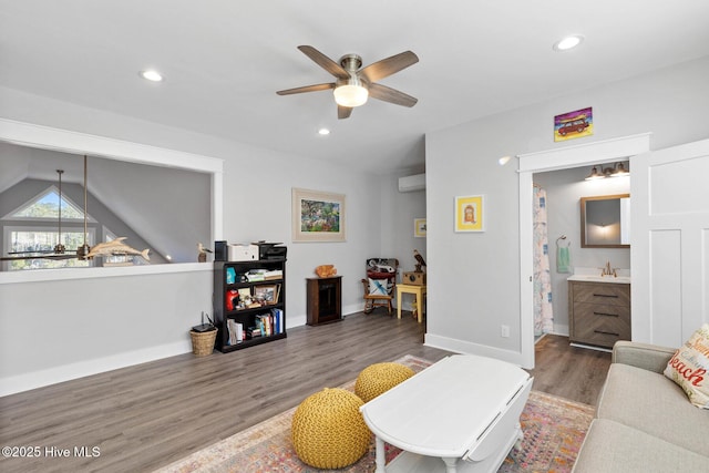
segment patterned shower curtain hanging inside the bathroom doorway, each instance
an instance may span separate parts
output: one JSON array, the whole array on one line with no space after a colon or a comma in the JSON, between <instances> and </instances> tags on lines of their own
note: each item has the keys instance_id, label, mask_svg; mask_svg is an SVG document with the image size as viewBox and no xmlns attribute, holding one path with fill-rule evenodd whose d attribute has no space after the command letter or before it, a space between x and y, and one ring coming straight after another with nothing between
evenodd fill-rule
<instances>
[{"instance_id":1,"label":"patterned shower curtain hanging inside the bathroom doorway","mask_svg":"<svg viewBox=\"0 0 709 473\"><path fill-rule=\"evenodd\" d=\"M551 332L553 325L546 191L534 186L534 336Z\"/></svg>"}]
</instances>

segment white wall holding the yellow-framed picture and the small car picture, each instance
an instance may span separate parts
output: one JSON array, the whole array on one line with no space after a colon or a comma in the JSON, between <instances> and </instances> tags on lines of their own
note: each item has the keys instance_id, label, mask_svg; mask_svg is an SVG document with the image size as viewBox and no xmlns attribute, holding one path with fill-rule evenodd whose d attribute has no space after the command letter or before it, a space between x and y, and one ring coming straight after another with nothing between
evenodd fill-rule
<instances>
[{"instance_id":1,"label":"white wall holding the yellow-framed picture and the small car picture","mask_svg":"<svg viewBox=\"0 0 709 473\"><path fill-rule=\"evenodd\" d=\"M553 119L587 106L586 143L653 132L657 150L707 137L708 82L703 58L427 135L427 343L521 363L518 176L499 157L579 144L554 143ZM486 196L486 232L454 233L455 196L475 194Z\"/></svg>"}]
</instances>

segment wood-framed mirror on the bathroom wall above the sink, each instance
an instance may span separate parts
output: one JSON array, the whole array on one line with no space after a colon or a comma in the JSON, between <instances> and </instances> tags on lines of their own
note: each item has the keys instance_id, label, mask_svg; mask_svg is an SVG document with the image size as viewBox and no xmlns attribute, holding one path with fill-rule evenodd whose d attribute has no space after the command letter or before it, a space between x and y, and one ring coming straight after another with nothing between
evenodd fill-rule
<instances>
[{"instance_id":1,"label":"wood-framed mirror on the bathroom wall above the sink","mask_svg":"<svg viewBox=\"0 0 709 473\"><path fill-rule=\"evenodd\" d=\"M580 246L630 247L630 194L580 198Z\"/></svg>"}]
</instances>

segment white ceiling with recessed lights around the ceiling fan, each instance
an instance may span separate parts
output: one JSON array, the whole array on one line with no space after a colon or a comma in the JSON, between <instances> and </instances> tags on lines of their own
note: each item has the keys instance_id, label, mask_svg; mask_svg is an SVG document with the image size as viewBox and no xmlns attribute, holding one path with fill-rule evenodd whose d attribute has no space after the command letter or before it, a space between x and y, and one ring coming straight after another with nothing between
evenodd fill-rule
<instances>
[{"instance_id":1,"label":"white ceiling with recessed lights around the ceiling fan","mask_svg":"<svg viewBox=\"0 0 709 473\"><path fill-rule=\"evenodd\" d=\"M370 171L422 169L425 133L705 56L708 25L707 0L0 0L0 85ZM553 51L572 33L580 48ZM381 83L419 103L370 100L338 121L329 91L276 95L332 81L300 44L364 65L411 50L420 62ZM147 68L166 80L138 78Z\"/></svg>"}]
</instances>

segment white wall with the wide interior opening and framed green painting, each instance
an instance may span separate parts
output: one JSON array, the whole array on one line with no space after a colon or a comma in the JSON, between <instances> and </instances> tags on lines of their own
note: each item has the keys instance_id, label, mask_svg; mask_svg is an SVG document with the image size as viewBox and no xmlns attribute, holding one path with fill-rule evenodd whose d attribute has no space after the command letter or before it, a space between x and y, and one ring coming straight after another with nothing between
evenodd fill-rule
<instances>
[{"instance_id":1,"label":"white wall with the wide interior opening and framed green painting","mask_svg":"<svg viewBox=\"0 0 709 473\"><path fill-rule=\"evenodd\" d=\"M389 205L378 176L4 88L0 102L2 119L224 160L223 238L288 246L287 327L305 323L305 278L321 264L343 276L343 312L362 308L363 261L382 251ZM346 194L347 243L294 244L291 187ZM392 232L387 241L399 240ZM202 268L0 285L0 395L187 352L189 327L210 306L212 275Z\"/></svg>"}]
</instances>

